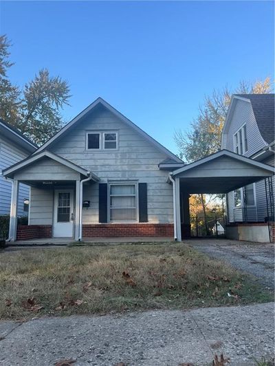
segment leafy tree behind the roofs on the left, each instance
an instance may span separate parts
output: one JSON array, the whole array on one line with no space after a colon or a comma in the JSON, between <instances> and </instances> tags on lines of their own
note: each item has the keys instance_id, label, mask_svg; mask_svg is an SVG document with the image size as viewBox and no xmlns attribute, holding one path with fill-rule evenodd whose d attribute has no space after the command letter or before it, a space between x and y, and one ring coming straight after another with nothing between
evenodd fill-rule
<instances>
[{"instance_id":1,"label":"leafy tree behind the roofs on the left","mask_svg":"<svg viewBox=\"0 0 275 366\"><path fill-rule=\"evenodd\" d=\"M0 38L0 117L36 144L45 143L63 126L61 109L69 104L69 85L42 69L20 90L8 80L10 43Z\"/></svg>"}]
</instances>

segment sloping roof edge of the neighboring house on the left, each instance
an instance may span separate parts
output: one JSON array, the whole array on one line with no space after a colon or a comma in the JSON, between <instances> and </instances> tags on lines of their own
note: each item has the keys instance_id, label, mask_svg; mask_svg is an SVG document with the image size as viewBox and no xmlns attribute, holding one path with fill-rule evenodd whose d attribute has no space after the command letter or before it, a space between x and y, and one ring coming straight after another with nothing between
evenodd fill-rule
<instances>
[{"instance_id":1,"label":"sloping roof edge of the neighboring house on the left","mask_svg":"<svg viewBox=\"0 0 275 366\"><path fill-rule=\"evenodd\" d=\"M0 134L1 136L5 136L15 144L18 144L24 150L32 153L34 150L38 148L34 142L32 142L28 137L25 137L17 128L8 124L3 119L0 118Z\"/></svg>"}]
</instances>

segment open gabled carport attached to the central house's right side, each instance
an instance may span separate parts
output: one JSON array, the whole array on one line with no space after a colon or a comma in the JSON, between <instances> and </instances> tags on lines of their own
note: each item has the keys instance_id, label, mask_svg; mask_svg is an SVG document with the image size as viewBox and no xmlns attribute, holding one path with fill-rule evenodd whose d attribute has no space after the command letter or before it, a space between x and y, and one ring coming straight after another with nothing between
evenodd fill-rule
<instances>
[{"instance_id":1,"label":"open gabled carport attached to the central house's right side","mask_svg":"<svg viewBox=\"0 0 275 366\"><path fill-rule=\"evenodd\" d=\"M189 194L226 194L273 175L271 165L228 150L170 172L167 182L173 183L175 239L181 241L182 228L190 225Z\"/></svg>"}]
</instances>

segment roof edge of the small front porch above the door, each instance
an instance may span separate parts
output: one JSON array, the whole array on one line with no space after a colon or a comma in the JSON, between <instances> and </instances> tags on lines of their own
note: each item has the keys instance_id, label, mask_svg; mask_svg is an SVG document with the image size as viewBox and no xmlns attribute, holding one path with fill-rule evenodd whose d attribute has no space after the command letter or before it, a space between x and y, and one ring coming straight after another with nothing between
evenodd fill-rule
<instances>
[{"instance_id":1,"label":"roof edge of the small front porch above the door","mask_svg":"<svg viewBox=\"0 0 275 366\"><path fill-rule=\"evenodd\" d=\"M69 161L67 159L64 159L63 157L60 157L53 152L43 150L37 154L31 155L30 157L27 157L24 160L19 161L18 163L15 163L14 165L10 166L9 168L6 168L2 171L3 176L10 176L11 174L14 174L18 170L21 170L25 168L26 166L39 161L40 159L43 159L44 157L48 157L50 159L53 159L55 161L58 161L58 163L61 163L68 168L71 168L72 170L75 170L76 172L79 172L80 174L83 174L85 176L91 176L94 181L99 181L100 179L96 174L93 174L89 172L88 170L81 168L79 165L76 165L75 163L72 163L72 161Z\"/></svg>"}]
</instances>

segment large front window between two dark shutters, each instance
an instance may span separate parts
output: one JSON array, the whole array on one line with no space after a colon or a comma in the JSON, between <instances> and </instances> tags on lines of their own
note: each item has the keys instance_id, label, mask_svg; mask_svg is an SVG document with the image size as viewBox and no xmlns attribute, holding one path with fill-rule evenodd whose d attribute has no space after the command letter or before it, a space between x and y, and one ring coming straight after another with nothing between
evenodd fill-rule
<instances>
[{"instance_id":1,"label":"large front window between two dark shutters","mask_svg":"<svg viewBox=\"0 0 275 366\"><path fill-rule=\"evenodd\" d=\"M135 184L110 185L110 221L136 221L137 194Z\"/></svg>"}]
</instances>

